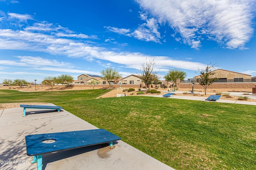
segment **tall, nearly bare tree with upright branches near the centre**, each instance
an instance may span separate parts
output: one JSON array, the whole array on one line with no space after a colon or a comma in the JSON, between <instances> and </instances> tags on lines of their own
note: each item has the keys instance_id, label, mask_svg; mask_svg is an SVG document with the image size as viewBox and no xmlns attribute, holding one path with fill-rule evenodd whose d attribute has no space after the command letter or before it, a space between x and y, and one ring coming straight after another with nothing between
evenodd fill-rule
<instances>
[{"instance_id":1,"label":"tall, nearly bare tree with upright branches near the centre","mask_svg":"<svg viewBox=\"0 0 256 170\"><path fill-rule=\"evenodd\" d=\"M154 59L149 60L148 62L146 59L146 63L143 63L142 68L140 68L140 73L137 72L137 74L140 76L140 79L145 83L146 88L147 86L149 87L149 85L154 80L154 75L157 75L158 73L156 71L153 72L155 66L156 66L156 63ZM147 90L146 90L146 93L147 93Z\"/></svg>"}]
</instances>

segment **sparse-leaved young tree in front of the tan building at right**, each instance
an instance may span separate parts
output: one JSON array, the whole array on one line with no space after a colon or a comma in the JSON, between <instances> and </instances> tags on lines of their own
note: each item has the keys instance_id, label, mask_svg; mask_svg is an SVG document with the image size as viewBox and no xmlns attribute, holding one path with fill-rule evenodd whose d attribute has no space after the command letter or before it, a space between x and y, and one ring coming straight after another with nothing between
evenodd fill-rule
<instances>
[{"instance_id":1,"label":"sparse-leaved young tree in front of the tan building at right","mask_svg":"<svg viewBox=\"0 0 256 170\"><path fill-rule=\"evenodd\" d=\"M215 75L215 64L207 64L206 68L199 70L200 72L200 78L198 79L198 82L200 85L204 87L204 95L206 95L206 89L207 86L210 86L212 83L214 83L218 78Z\"/></svg>"}]
</instances>

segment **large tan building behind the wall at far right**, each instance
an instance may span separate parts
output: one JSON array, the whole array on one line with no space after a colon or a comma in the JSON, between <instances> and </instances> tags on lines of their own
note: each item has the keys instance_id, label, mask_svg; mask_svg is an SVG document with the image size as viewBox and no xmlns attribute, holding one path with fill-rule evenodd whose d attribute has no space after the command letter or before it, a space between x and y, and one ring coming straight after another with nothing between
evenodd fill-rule
<instances>
[{"instance_id":1,"label":"large tan building behind the wall at far right","mask_svg":"<svg viewBox=\"0 0 256 170\"><path fill-rule=\"evenodd\" d=\"M225 82L225 80L234 80L234 82L242 82L244 79L252 78L252 75L222 69L217 69L212 72L215 72L214 77L217 77L219 80L223 80L223 82ZM200 78L200 75L195 76L194 78Z\"/></svg>"}]
</instances>

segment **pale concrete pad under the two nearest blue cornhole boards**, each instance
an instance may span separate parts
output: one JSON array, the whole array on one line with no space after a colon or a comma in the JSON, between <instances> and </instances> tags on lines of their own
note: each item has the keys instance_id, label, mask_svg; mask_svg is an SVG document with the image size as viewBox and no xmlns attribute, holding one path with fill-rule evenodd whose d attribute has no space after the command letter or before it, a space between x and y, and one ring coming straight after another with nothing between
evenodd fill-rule
<instances>
[{"instance_id":1,"label":"pale concrete pad under the two nearest blue cornhole boards","mask_svg":"<svg viewBox=\"0 0 256 170\"><path fill-rule=\"evenodd\" d=\"M22 107L0 110L1 170L36 170L37 163L30 164L33 156L26 155L26 135L98 129L64 109L61 112L28 109L27 113L26 117L22 117ZM43 154L42 169L174 170L124 143L122 139L117 142L112 150L106 147L108 144L102 144Z\"/></svg>"}]
</instances>

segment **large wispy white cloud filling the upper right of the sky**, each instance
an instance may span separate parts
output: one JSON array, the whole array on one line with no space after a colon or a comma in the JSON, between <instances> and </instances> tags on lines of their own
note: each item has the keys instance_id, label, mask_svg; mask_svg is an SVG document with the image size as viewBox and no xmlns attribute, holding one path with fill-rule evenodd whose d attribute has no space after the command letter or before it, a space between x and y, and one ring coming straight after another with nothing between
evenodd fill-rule
<instances>
[{"instance_id":1,"label":"large wispy white cloud filling the upper right of the sky","mask_svg":"<svg viewBox=\"0 0 256 170\"><path fill-rule=\"evenodd\" d=\"M160 23L168 23L192 48L201 46L200 34L224 47L243 49L252 37L250 0L138 0ZM178 35L176 35L178 36ZM176 39L179 41L179 38Z\"/></svg>"}]
</instances>

